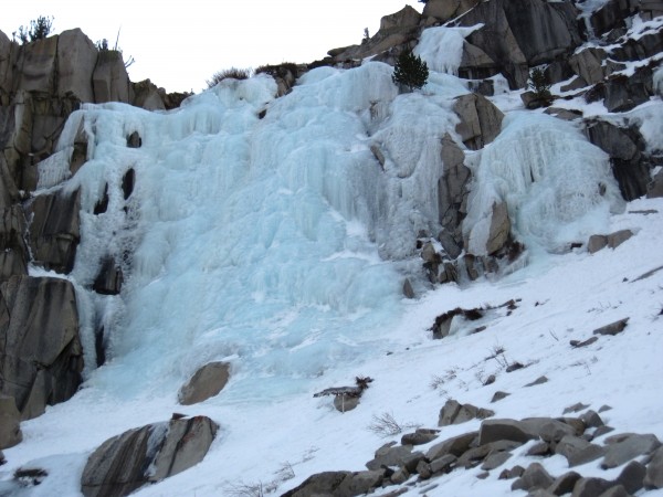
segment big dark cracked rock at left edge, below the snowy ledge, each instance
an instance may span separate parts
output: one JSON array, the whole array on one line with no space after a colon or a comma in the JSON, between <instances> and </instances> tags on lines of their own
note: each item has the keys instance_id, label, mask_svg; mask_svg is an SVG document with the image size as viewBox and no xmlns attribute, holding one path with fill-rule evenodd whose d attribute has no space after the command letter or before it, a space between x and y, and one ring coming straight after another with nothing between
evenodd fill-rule
<instances>
[{"instance_id":1,"label":"big dark cracked rock at left edge, below the snowy ledge","mask_svg":"<svg viewBox=\"0 0 663 497\"><path fill-rule=\"evenodd\" d=\"M78 389L83 357L71 282L12 276L0 285L0 393L23 420Z\"/></svg>"}]
</instances>

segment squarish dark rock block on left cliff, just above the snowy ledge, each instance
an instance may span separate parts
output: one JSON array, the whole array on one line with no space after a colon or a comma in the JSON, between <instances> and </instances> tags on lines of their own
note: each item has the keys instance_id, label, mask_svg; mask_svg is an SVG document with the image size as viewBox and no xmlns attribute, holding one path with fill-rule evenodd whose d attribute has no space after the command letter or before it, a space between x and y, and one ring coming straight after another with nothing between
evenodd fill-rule
<instances>
[{"instance_id":1,"label":"squarish dark rock block on left cliff, just above the snowy ledge","mask_svg":"<svg viewBox=\"0 0 663 497\"><path fill-rule=\"evenodd\" d=\"M67 274L81 240L81 190L38 195L28 207L30 247L35 264Z\"/></svg>"}]
</instances>

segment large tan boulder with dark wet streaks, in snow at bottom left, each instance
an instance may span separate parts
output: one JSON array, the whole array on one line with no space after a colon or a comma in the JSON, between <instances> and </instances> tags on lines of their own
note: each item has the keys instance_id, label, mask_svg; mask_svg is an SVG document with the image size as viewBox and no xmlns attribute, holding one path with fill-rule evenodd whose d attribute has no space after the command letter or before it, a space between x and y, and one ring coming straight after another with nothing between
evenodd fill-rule
<instances>
[{"instance_id":1,"label":"large tan boulder with dark wet streaks, in snow at bottom left","mask_svg":"<svg viewBox=\"0 0 663 497\"><path fill-rule=\"evenodd\" d=\"M129 430L104 442L81 478L85 497L126 496L200 463L218 425L206 416L171 420Z\"/></svg>"}]
</instances>

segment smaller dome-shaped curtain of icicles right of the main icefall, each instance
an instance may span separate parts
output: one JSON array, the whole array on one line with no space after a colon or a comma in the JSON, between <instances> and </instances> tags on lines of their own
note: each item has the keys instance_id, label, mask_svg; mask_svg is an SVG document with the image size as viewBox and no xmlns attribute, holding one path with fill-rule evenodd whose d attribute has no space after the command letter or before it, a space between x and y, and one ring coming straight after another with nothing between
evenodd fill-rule
<instances>
[{"instance_id":1,"label":"smaller dome-shaped curtain of icicles right of the main icefall","mask_svg":"<svg viewBox=\"0 0 663 497\"><path fill-rule=\"evenodd\" d=\"M519 240L550 252L585 242L623 209L608 156L575 124L545 114L508 115L471 166L463 226L466 248L477 255L485 254L495 203L506 201Z\"/></svg>"}]
</instances>

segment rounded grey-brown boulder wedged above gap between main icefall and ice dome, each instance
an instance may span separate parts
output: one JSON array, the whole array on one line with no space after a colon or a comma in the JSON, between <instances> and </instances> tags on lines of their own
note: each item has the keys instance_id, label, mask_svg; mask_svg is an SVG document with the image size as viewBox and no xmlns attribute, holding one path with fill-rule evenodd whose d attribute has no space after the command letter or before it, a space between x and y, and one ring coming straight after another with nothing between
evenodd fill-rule
<instances>
[{"instance_id":1,"label":"rounded grey-brown boulder wedged above gap between main icefall and ice dome","mask_svg":"<svg viewBox=\"0 0 663 497\"><path fill-rule=\"evenodd\" d=\"M463 144L473 150L492 142L502 129L504 114L480 94L457 97L453 110L461 119L456 125L456 133Z\"/></svg>"}]
</instances>

